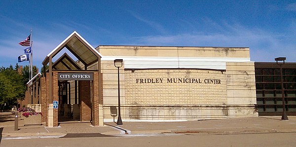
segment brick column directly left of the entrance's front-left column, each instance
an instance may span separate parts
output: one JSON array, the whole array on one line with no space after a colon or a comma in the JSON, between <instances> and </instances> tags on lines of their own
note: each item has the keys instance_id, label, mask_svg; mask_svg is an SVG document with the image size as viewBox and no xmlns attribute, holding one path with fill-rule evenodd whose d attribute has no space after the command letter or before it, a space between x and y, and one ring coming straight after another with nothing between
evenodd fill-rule
<instances>
[{"instance_id":1,"label":"brick column directly left of the entrance's front-left column","mask_svg":"<svg viewBox=\"0 0 296 147\"><path fill-rule=\"evenodd\" d=\"M46 115L47 115L47 105L46 105L46 81L45 77L40 78L40 104L41 104L41 121L46 122Z\"/></svg>"}]
</instances>

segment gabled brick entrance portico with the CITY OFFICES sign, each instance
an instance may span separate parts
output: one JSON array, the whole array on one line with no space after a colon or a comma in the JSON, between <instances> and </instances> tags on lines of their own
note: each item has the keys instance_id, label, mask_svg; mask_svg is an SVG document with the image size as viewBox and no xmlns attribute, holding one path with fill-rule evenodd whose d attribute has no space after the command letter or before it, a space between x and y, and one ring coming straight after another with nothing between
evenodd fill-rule
<instances>
[{"instance_id":1,"label":"gabled brick entrance portico with the CITY OFFICES sign","mask_svg":"<svg viewBox=\"0 0 296 147\"><path fill-rule=\"evenodd\" d=\"M68 49L78 61L75 62L65 53L53 63L52 58L64 48ZM74 95L74 106L79 106L80 121L91 121L94 126L103 125L101 57L102 55L76 32L46 56L42 62L46 87L43 87L45 94L41 95L46 106L42 107L43 113L46 114L46 126L58 126L59 114L66 115L65 112L69 111L74 113L75 107L71 108L71 95ZM62 83L66 83L64 91L61 88ZM53 109L53 101L63 103L59 105L63 108ZM67 110L63 110L65 108Z\"/></svg>"}]
</instances>

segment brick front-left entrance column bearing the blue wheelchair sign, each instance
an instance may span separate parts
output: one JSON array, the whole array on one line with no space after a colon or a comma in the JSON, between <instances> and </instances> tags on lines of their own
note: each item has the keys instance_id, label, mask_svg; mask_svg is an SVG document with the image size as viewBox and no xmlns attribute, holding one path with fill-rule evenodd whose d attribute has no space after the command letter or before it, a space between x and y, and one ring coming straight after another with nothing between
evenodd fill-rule
<instances>
[{"instance_id":1,"label":"brick front-left entrance column bearing the blue wheelchair sign","mask_svg":"<svg viewBox=\"0 0 296 147\"><path fill-rule=\"evenodd\" d=\"M53 101L59 101L59 96L58 96L58 90L59 90L59 86L58 86L58 73L57 72L53 72L52 73L52 100ZM50 102L53 103L53 102ZM57 127L58 125L58 109L53 109L53 126Z\"/></svg>"}]
</instances>

